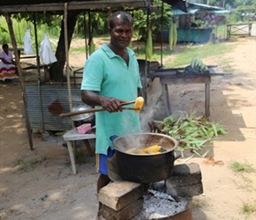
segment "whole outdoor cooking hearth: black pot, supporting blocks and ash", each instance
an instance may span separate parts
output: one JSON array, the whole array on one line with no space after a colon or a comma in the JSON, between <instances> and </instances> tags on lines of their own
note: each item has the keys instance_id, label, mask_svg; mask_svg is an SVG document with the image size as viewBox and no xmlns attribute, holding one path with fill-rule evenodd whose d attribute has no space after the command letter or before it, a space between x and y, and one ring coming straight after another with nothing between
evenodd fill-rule
<instances>
[{"instance_id":1,"label":"whole outdoor cooking hearth: black pot, supporting blocks and ash","mask_svg":"<svg viewBox=\"0 0 256 220\"><path fill-rule=\"evenodd\" d=\"M192 196L202 194L200 166L174 165L177 141L170 136L140 133L113 141L108 159L112 180L99 192L107 220L192 220Z\"/></svg>"}]
</instances>

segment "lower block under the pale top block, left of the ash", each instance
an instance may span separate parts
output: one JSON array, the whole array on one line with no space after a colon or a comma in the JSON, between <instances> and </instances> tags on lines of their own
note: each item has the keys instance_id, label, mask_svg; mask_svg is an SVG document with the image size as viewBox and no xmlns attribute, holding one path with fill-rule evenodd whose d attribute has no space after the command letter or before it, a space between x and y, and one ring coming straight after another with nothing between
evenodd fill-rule
<instances>
[{"instance_id":1,"label":"lower block under the pale top block, left of the ash","mask_svg":"<svg viewBox=\"0 0 256 220\"><path fill-rule=\"evenodd\" d=\"M118 211L102 205L102 216L107 220L128 220L139 215L141 209L143 209L143 198L139 198L139 200L132 202L124 207L124 209Z\"/></svg>"}]
</instances>

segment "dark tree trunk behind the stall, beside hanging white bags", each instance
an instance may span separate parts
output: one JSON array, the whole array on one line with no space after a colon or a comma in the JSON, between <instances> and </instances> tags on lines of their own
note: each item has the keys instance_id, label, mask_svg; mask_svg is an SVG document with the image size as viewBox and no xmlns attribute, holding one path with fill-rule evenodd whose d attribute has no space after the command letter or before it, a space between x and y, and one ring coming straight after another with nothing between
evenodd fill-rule
<instances>
[{"instance_id":1,"label":"dark tree trunk behind the stall, beside hanging white bags","mask_svg":"<svg viewBox=\"0 0 256 220\"><path fill-rule=\"evenodd\" d=\"M67 17L68 48L70 48L71 46L72 34L76 26L78 15L79 15L78 11L69 11L68 13L68 17ZM49 77L51 80L60 82L64 77L63 70L64 70L64 64L66 62L65 48L64 48L64 20L62 21L61 33L60 33L57 48L56 48L56 60L57 62L55 62L49 68Z\"/></svg>"}]
</instances>

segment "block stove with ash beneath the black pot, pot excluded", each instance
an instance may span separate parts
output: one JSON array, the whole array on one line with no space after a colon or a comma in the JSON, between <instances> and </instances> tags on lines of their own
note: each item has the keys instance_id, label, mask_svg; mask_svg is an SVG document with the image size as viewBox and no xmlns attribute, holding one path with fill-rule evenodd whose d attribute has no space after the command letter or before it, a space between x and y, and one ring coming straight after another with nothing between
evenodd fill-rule
<instances>
[{"instance_id":1,"label":"block stove with ash beneath the black pot, pot excluded","mask_svg":"<svg viewBox=\"0 0 256 220\"><path fill-rule=\"evenodd\" d=\"M108 167L113 182L99 193L107 220L192 220L192 196L203 193L198 164L175 165L169 179L147 185L122 180L111 159Z\"/></svg>"}]
</instances>

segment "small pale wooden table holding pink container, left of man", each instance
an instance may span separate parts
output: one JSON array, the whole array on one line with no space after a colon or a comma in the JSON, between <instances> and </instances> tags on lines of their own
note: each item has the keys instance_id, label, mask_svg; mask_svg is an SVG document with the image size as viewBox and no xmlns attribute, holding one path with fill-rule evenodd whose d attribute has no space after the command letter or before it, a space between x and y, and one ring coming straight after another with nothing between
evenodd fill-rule
<instances>
[{"instance_id":1,"label":"small pale wooden table holding pink container, left of man","mask_svg":"<svg viewBox=\"0 0 256 220\"><path fill-rule=\"evenodd\" d=\"M72 172L74 174L76 174L77 169L76 169L75 157L74 157L74 153L73 153L73 148L75 149L75 144L72 144L72 143L74 141L84 140L84 142L86 143L89 155L93 156L94 151L91 149L91 146L90 146L90 143L88 142L88 140L94 139L94 138L96 138L96 136L94 133L79 134L77 131L77 128L72 128L71 130L69 130L68 132L66 132L64 134L63 138L64 138L64 141L68 145L69 155L70 155L71 162L72 162Z\"/></svg>"}]
</instances>

